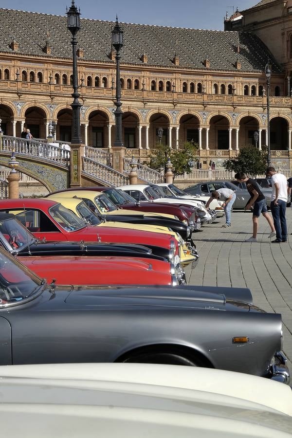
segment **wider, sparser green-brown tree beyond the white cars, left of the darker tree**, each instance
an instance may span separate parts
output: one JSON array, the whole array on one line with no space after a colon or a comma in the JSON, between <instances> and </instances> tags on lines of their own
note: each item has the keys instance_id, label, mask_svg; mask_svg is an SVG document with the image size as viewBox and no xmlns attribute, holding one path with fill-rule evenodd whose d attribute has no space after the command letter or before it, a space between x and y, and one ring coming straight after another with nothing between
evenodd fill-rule
<instances>
[{"instance_id":1,"label":"wider, sparser green-brown tree beyond the white cars, left of the darker tree","mask_svg":"<svg viewBox=\"0 0 292 438\"><path fill-rule=\"evenodd\" d=\"M198 149L198 145L193 142L185 142L182 149L170 149L167 145L156 146L156 155L151 155L149 167L159 170L165 168L168 157L173 165L172 172L174 178L183 173L189 173L194 161L194 152Z\"/></svg>"}]
</instances>

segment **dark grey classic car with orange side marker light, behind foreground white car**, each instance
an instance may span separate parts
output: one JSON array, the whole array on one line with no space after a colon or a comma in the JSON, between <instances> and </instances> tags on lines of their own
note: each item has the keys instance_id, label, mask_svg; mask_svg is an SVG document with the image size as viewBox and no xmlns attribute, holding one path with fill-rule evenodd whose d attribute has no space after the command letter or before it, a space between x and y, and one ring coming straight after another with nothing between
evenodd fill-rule
<instances>
[{"instance_id":1,"label":"dark grey classic car with orange side marker light, behind foreground white car","mask_svg":"<svg viewBox=\"0 0 292 438\"><path fill-rule=\"evenodd\" d=\"M248 300L232 288L48 286L0 249L0 364L197 365L289 383L281 315Z\"/></svg>"}]
</instances>

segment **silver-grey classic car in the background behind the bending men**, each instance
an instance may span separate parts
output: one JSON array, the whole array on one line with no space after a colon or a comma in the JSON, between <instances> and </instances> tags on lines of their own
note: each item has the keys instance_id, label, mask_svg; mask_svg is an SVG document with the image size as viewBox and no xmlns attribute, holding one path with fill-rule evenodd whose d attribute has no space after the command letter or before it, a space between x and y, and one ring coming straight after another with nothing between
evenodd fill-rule
<instances>
[{"instance_id":1,"label":"silver-grey classic car in the background behind the bending men","mask_svg":"<svg viewBox=\"0 0 292 438\"><path fill-rule=\"evenodd\" d=\"M227 187L236 193L236 200L232 207L234 209L242 210L248 203L250 194L248 193L247 189L241 189L230 181L204 181L202 183L196 183L195 185L187 187L185 192L189 193L190 195L211 195L211 193L215 190L224 187ZM266 201L267 205L270 206L270 196L266 196Z\"/></svg>"}]
</instances>

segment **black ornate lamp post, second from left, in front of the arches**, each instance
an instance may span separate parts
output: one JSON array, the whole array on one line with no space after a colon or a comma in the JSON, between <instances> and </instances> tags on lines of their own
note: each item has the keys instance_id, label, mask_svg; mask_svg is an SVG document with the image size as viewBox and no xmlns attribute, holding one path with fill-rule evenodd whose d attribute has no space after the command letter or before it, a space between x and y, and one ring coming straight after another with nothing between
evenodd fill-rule
<instances>
[{"instance_id":1,"label":"black ornate lamp post, second from left, in front of the arches","mask_svg":"<svg viewBox=\"0 0 292 438\"><path fill-rule=\"evenodd\" d=\"M124 146L122 141L122 115L121 109L121 81L120 81L120 50L124 44L124 32L122 26L118 22L118 16L116 17L116 24L111 31L111 43L115 48L116 54L116 101L114 105L117 107L114 111L115 115L115 142L114 146Z\"/></svg>"}]
</instances>

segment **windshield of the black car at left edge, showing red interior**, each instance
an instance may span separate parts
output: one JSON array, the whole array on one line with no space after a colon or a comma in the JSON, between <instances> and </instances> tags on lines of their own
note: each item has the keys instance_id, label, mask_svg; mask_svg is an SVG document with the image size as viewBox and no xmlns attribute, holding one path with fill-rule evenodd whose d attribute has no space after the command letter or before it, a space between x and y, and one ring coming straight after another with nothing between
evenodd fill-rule
<instances>
[{"instance_id":1,"label":"windshield of the black car at left edge, showing red interior","mask_svg":"<svg viewBox=\"0 0 292 438\"><path fill-rule=\"evenodd\" d=\"M36 240L36 237L14 218L0 222L0 233L2 245L10 251L21 250Z\"/></svg>"}]
</instances>

